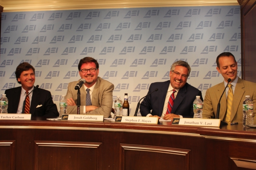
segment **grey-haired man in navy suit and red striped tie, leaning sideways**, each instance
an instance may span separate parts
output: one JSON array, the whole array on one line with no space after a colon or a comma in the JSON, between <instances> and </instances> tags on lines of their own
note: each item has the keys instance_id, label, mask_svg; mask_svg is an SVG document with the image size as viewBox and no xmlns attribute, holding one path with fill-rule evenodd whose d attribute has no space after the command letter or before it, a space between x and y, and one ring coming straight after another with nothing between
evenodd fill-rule
<instances>
[{"instance_id":1,"label":"grey-haired man in navy suit and red striped tie, leaning sideways","mask_svg":"<svg viewBox=\"0 0 256 170\"><path fill-rule=\"evenodd\" d=\"M193 118L193 102L196 96L200 96L202 101L203 98L200 90L187 83L190 71L191 68L187 62L181 60L174 62L169 74L170 80L150 85L148 94L156 89L158 91L143 99L139 107L141 116L162 117L164 120ZM171 104L172 109L168 109L171 95L174 101ZM168 113L169 110L170 113Z\"/></svg>"}]
</instances>

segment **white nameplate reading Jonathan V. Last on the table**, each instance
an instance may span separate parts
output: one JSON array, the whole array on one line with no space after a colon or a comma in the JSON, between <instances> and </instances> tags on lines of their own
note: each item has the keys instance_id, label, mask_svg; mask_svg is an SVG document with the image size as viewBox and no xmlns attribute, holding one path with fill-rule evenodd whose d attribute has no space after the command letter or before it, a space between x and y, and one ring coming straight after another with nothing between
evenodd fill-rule
<instances>
[{"instance_id":1,"label":"white nameplate reading Jonathan V. Last on the table","mask_svg":"<svg viewBox=\"0 0 256 170\"><path fill-rule=\"evenodd\" d=\"M220 127L220 119L173 118L172 125Z\"/></svg>"}]
</instances>

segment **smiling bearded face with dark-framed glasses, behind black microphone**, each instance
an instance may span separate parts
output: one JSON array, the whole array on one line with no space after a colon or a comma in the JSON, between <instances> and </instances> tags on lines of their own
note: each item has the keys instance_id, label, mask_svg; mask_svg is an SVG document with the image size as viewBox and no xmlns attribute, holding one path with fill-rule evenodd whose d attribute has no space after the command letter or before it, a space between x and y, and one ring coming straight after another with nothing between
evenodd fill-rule
<instances>
[{"instance_id":1,"label":"smiling bearded face with dark-framed glasses, behind black microphone","mask_svg":"<svg viewBox=\"0 0 256 170\"><path fill-rule=\"evenodd\" d=\"M81 70L83 70L83 69L96 69L96 65L94 62L84 63L81 66ZM82 73L82 71L79 71L79 75L82 79L85 79L86 87L90 88L97 81L97 78L99 75L99 69L95 70L95 72L92 72L92 73L89 70L87 71L87 73Z\"/></svg>"}]
</instances>

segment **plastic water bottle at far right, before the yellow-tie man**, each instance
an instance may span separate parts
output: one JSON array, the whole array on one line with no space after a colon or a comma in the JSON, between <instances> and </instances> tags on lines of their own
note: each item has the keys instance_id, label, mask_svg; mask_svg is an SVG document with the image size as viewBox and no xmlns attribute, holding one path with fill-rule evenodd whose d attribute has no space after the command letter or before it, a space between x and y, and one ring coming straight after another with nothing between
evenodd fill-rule
<instances>
[{"instance_id":1,"label":"plastic water bottle at far right, before the yellow-tie man","mask_svg":"<svg viewBox=\"0 0 256 170\"><path fill-rule=\"evenodd\" d=\"M250 96L245 96L243 102L243 126L253 125L253 102L250 99Z\"/></svg>"}]
</instances>

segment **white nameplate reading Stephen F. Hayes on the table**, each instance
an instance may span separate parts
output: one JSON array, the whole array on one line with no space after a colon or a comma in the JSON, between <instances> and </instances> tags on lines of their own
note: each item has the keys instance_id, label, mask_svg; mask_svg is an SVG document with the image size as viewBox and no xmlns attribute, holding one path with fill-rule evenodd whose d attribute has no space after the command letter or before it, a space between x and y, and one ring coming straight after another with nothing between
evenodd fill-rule
<instances>
[{"instance_id":1,"label":"white nameplate reading Stephen F. Hayes on the table","mask_svg":"<svg viewBox=\"0 0 256 170\"><path fill-rule=\"evenodd\" d=\"M117 116L115 122L157 124L158 117Z\"/></svg>"}]
</instances>

